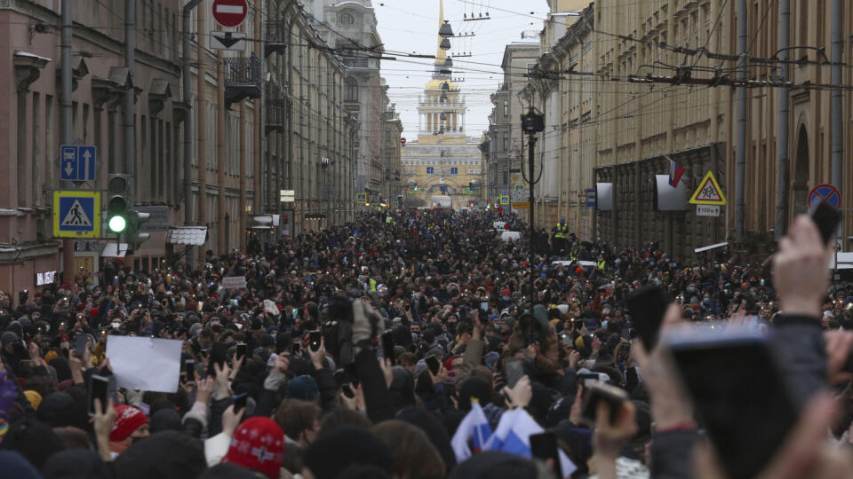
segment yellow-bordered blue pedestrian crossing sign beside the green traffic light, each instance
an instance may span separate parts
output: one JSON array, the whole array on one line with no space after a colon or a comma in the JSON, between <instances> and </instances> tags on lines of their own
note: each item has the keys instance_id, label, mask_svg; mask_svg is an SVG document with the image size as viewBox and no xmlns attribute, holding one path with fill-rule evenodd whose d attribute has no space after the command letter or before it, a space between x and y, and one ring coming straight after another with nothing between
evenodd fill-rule
<instances>
[{"instance_id":1,"label":"yellow-bordered blue pedestrian crossing sign beside the green traffic light","mask_svg":"<svg viewBox=\"0 0 853 479\"><path fill-rule=\"evenodd\" d=\"M100 237L100 192L53 192L53 236Z\"/></svg>"}]
</instances>

